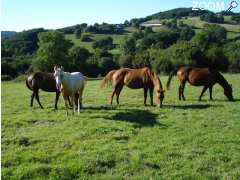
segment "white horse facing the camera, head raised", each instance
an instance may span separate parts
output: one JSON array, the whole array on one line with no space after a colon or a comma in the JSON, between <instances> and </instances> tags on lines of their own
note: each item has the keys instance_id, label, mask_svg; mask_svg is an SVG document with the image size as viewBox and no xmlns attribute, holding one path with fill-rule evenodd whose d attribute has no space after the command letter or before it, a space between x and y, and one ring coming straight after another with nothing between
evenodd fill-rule
<instances>
[{"instance_id":1,"label":"white horse facing the camera, head raised","mask_svg":"<svg viewBox=\"0 0 240 180\"><path fill-rule=\"evenodd\" d=\"M64 72L63 67L59 68L54 66L54 76L56 79L56 86L57 89L62 92L65 106L67 108L68 114L68 99L67 97L70 96L71 102L73 104L73 114L75 113L75 94L78 94L79 97L77 99L77 106L78 106L78 114L80 112L80 105L82 105L82 94L85 85L86 77L82 75L80 72Z\"/></svg>"}]
</instances>

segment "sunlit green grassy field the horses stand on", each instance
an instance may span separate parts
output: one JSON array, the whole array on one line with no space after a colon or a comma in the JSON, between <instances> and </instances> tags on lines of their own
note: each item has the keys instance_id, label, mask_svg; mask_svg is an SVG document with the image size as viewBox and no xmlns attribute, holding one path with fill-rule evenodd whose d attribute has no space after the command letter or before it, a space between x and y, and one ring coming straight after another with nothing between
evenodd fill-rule
<instances>
[{"instance_id":1,"label":"sunlit green grassy field the horses stand on","mask_svg":"<svg viewBox=\"0 0 240 180\"><path fill-rule=\"evenodd\" d=\"M128 88L110 108L111 88L89 81L84 109L69 117L62 97L57 111L46 92L45 109L30 108L25 82L3 82L2 179L240 179L240 75L224 76L235 102L219 85L202 102L187 85L180 102L175 77L162 109Z\"/></svg>"}]
</instances>

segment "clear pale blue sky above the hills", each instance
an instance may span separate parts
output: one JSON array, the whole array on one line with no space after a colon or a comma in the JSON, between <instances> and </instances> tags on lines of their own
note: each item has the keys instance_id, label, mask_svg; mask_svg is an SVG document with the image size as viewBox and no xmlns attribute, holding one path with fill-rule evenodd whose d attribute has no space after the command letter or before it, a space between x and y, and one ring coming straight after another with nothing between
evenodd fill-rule
<instances>
[{"instance_id":1,"label":"clear pale blue sky above the hills","mask_svg":"<svg viewBox=\"0 0 240 180\"><path fill-rule=\"evenodd\" d=\"M234 12L240 12L240 0ZM123 23L178 7L218 11L231 0L1 0L1 30L57 29L80 23ZM213 8L215 7L215 8Z\"/></svg>"}]
</instances>

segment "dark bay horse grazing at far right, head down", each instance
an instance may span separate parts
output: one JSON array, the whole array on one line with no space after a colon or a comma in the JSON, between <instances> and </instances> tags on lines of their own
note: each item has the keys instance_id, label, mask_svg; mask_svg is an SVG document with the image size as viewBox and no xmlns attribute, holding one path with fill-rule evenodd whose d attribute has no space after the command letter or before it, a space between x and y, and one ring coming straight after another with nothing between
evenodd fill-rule
<instances>
[{"instance_id":1,"label":"dark bay horse grazing at far right, head down","mask_svg":"<svg viewBox=\"0 0 240 180\"><path fill-rule=\"evenodd\" d=\"M204 86L201 95L199 96L199 100L201 100L203 94L207 89L209 89L210 100L212 100L212 88L214 84L218 83L224 89L224 94L228 98L229 101L233 101L232 95L232 87L228 84L227 80L223 77L223 75L215 69L211 68L191 68L191 67L182 67L177 71L173 71L167 82L167 88L169 89L171 79L173 75L177 74L180 80L180 86L178 89L179 100L184 96L184 88L186 82L189 82L193 86Z\"/></svg>"}]
</instances>

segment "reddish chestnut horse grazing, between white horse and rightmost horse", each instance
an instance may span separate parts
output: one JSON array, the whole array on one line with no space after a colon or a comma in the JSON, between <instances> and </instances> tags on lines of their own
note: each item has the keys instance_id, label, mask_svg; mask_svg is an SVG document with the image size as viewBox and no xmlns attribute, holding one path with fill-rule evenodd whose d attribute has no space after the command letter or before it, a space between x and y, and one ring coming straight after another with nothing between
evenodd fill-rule
<instances>
[{"instance_id":1,"label":"reddish chestnut horse grazing, between white horse and rightmost horse","mask_svg":"<svg viewBox=\"0 0 240 180\"><path fill-rule=\"evenodd\" d=\"M110 99L112 105L113 97L116 94L117 104L119 104L119 95L124 85L131 89L144 90L144 105L146 106L147 93L150 92L151 105L153 106L153 90L156 91L157 104L162 106L164 99L164 90L158 76L153 73L148 67L141 69L121 68L119 70L110 71L103 79L102 87L108 81L112 81L113 92Z\"/></svg>"}]
</instances>

